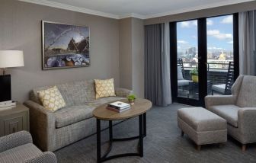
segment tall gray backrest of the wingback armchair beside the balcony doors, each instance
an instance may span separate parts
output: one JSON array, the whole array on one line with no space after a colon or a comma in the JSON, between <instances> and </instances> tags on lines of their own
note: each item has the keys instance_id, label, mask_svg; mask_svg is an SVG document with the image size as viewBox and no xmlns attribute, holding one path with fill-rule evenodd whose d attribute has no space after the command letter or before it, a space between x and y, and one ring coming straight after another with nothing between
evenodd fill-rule
<instances>
[{"instance_id":1,"label":"tall gray backrest of the wingback armchair beside the balcony doors","mask_svg":"<svg viewBox=\"0 0 256 163\"><path fill-rule=\"evenodd\" d=\"M256 76L244 76L236 105L238 107L256 107Z\"/></svg>"}]
</instances>

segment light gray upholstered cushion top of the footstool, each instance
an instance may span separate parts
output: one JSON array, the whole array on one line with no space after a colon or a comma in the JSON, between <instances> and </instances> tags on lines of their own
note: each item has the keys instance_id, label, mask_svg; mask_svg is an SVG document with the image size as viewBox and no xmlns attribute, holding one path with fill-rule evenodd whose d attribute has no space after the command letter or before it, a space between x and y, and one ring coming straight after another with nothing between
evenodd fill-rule
<instances>
[{"instance_id":1,"label":"light gray upholstered cushion top of the footstool","mask_svg":"<svg viewBox=\"0 0 256 163\"><path fill-rule=\"evenodd\" d=\"M186 107L178 110L178 119L197 132L226 129L226 120L203 107Z\"/></svg>"}]
</instances>

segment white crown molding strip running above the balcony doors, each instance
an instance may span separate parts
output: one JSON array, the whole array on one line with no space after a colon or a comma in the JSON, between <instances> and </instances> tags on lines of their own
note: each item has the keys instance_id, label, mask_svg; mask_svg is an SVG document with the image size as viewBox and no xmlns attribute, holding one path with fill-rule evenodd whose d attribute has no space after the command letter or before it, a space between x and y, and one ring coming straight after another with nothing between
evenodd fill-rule
<instances>
[{"instance_id":1,"label":"white crown molding strip running above the balcony doors","mask_svg":"<svg viewBox=\"0 0 256 163\"><path fill-rule=\"evenodd\" d=\"M162 12L158 14L147 14L146 16L144 16L144 19L158 18L158 17L168 16L171 14L181 14L181 13L190 12L190 11L198 11L198 10L203 10L207 8L216 8L216 7L221 7L225 5L235 5L238 3L252 2L252 1L255 1L255 0L228 0L225 2L216 2L209 5L199 5L197 7L192 7L192 8L182 8L179 10L167 11L167 12Z\"/></svg>"}]
</instances>

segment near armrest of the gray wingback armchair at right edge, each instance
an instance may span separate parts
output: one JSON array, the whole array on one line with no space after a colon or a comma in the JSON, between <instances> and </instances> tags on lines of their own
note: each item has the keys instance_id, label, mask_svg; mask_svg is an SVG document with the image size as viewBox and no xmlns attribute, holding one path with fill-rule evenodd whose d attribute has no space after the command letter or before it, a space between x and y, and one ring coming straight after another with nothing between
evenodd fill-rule
<instances>
[{"instance_id":1,"label":"near armrest of the gray wingback armchair at right edge","mask_svg":"<svg viewBox=\"0 0 256 163\"><path fill-rule=\"evenodd\" d=\"M244 107L238 110L238 129L244 142L256 141L256 107Z\"/></svg>"}]
</instances>

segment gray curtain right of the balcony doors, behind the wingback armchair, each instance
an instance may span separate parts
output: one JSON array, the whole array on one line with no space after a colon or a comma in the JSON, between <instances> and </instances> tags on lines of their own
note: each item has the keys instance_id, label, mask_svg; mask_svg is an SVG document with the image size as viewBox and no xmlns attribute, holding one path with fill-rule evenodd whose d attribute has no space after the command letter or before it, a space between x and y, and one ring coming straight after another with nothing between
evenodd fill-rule
<instances>
[{"instance_id":1,"label":"gray curtain right of the balcony doors, behind the wingback armchair","mask_svg":"<svg viewBox=\"0 0 256 163\"><path fill-rule=\"evenodd\" d=\"M242 75L256 75L255 22L256 12L239 13L239 72Z\"/></svg>"}]
</instances>

